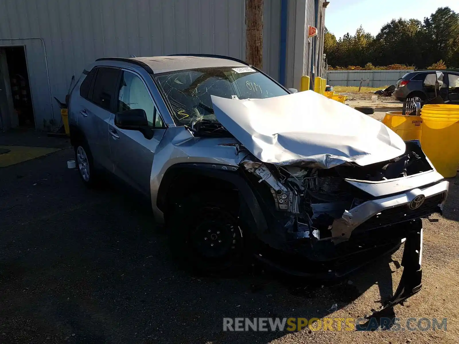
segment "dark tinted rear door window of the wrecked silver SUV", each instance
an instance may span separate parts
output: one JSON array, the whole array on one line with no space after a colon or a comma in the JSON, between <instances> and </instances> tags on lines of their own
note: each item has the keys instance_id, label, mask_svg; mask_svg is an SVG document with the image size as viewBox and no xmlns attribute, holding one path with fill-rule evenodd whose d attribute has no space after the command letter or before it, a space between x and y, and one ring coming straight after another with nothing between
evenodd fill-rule
<instances>
[{"instance_id":1,"label":"dark tinted rear door window of the wrecked silver SUV","mask_svg":"<svg viewBox=\"0 0 459 344\"><path fill-rule=\"evenodd\" d=\"M91 100L101 108L110 111L118 82L119 69L109 67L98 67L97 69Z\"/></svg>"}]
</instances>

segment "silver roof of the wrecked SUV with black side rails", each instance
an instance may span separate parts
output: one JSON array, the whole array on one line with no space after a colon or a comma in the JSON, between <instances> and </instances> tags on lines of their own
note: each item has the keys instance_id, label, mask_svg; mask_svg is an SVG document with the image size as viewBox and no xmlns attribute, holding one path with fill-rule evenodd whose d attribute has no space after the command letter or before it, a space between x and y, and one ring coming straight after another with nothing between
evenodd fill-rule
<instances>
[{"instance_id":1,"label":"silver roof of the wrecked SUV with black side rails","mask_svg":"<svg viewBox=\"0 0 459 344\"><path fill-rule=\"evenodd\" d=\"M247 67L243 61L232 57L220 55L169 55L152 57L106 57L101 60L131 62L144 67L149 73L165 73L184 69L196 69L206 67Z\"/></svg>"}]
</instances>

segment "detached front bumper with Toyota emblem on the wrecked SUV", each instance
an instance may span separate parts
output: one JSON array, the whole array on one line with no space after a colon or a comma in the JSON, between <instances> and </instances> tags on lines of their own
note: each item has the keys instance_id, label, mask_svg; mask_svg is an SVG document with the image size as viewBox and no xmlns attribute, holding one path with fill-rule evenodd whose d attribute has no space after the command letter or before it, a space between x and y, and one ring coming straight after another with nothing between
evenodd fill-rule
<instances>
[{"instance_id":1,"label":"detached front bumper with Toyota emblem on the wrecked SUV","mask_svg":"<svg viewBox=\"0 0 459 344\"><path fill-rule=\"evenodd\" d=\"M321 233L320 239L285 238L276 246L259 237L265 244L260 245L256 258L290 275L316 279L344 277L374 258L395 252L420 218L441 214L448 185L447 181L439 181L368 200L334 220L328 237L322 238ZM410 209L411 202L420 195L425 197L424 203ZM271 233L280 233L283 229L273 228ZM302 261L302 264L292 264L292 261Z\"/></svg>"}]
</instances>

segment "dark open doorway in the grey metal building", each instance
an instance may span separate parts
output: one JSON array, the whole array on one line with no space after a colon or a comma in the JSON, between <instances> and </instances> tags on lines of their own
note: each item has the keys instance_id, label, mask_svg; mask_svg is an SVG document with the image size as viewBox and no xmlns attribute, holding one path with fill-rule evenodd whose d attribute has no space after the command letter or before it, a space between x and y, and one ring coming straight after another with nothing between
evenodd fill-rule
<instances>
[{"instance_id":1,"label":"dark open doorway in the grey metal building","mask_svg":"<svg viewBox=\"0 0 459 344\"><path fill-rule=\"evenodd\" d=\"M3 126L35 128L24 47L0 47L0 56L3 98L8 105L1 111Z\"/></svg>"}]
</instances>

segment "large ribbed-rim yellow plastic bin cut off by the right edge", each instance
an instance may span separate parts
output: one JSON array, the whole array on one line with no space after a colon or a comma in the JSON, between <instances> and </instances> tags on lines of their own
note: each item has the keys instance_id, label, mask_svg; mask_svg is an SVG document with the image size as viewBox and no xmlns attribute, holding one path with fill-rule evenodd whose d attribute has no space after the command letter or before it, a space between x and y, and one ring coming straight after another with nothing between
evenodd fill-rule
<instances>
[{"instance_id":1,"label":"large ribbed-rim yellow plastic bin cut off by the right edge","mask_svg":"<svg viewBox=\"0 0 459 344\"><path fill-rule=\"evenodd\" d=\"M421 118L422 150L443 177L456 177L459 163L459 105L424 105Z\"/></svg>"}]
</instances>

